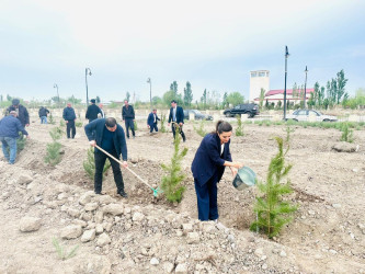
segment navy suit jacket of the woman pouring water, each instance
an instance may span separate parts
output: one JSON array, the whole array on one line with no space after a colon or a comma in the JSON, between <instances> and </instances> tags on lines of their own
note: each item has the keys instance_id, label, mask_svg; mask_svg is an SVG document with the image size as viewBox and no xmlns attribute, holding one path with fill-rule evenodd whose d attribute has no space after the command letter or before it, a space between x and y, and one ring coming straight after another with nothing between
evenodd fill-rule
<instances>
[{"instance_id":1,"label":"navy suit jacket of the woman pouring water","mask_svg":"<svg viewBox=\"0 0 365 274\"><path fill-rule=\"evenodd\" d=\"M225 145L224 153L220 156L220 139L217 134L207 134L196 150L192 172L194 179L204 185L217 172L217 182L225 172L225 161L232 161L229 151L230 140Z\"/></svg>"}]
</instances>

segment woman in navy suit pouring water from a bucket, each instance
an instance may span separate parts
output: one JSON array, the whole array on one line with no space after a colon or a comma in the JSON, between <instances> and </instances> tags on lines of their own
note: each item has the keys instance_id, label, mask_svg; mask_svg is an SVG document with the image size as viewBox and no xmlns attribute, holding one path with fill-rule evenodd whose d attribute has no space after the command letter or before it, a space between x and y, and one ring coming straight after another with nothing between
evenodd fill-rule
<instances>
[{"instance_id":1,"label":"woman in navy suit pouring water from a bucket","mask_svg":"<svg viewBox=\"0 0 365 274\"><path fill-rule=\"evenodd\" d=\"M232 162L229 151L232 126L228 122L218 121L216 130L207 134L196 150L192 172L197 197L197 212L199 220L217 221L217 183L220 181L225 168L229 167L232 175L236 169L243 167L241 162Z\"/></svg>"}]
</instances>

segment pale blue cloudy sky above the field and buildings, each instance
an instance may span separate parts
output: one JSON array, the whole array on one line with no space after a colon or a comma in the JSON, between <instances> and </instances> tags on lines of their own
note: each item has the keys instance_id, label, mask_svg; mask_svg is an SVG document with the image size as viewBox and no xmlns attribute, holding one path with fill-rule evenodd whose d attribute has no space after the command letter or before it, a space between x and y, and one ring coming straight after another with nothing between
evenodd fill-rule
<instances>
[{"instance_id":1,"label":"pale blue cloudy sky above the field and buildings","mask_svg":"<svg viewBox=\"0 0 365 274\"><path fill-rule=\"evenodd\" d=\"M364 0L0 0L0 94L48 100L72 94L149 101L186 81L249 99L250 71L270 70L270 89L344 70L346 91L365 88Z\"/></svg>"}]
</instances>

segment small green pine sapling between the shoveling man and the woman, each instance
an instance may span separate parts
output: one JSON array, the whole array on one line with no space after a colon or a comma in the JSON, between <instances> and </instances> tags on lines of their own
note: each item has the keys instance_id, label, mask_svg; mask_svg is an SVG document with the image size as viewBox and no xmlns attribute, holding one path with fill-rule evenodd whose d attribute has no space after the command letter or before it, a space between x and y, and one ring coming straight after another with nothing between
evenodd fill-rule
<instances>
[{"instance_id":1,"label":"small green pine sapling between the shoveling man and the woman","mask_svg":"<svg viewBox=\"0 0 365 274\"><path fill-rule=\"evenodd\" d=\"M175 134L174 152L171 158L171 163L169 165L161 164L162 169L167 172L167 174L161 179L161 189L167 199L171 203L180 203L186 189L182 185L186 175L182 170L181 161L186 156L187 148L180 151L179 145L181 137L178 130L179 129L176 129Z\"/></svg>"}]
</instances>

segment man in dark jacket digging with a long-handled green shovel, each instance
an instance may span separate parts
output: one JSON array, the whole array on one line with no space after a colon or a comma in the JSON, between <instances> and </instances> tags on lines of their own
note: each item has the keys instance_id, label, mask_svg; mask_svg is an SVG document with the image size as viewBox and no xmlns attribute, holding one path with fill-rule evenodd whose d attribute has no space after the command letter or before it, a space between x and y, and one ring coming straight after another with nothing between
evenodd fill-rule
<instances>
[{"instance_id":1,"label":"man in dark jacket digging with a long-handled green shovel","mask_svg":"<svg viewBox=\"0 0 365 274\"><path fill-rule=\"evenodd\" d=\"M98 145L116 159L119 159L122 153L123 167L128 167L127 163L127 144L125 141L124 130L113 117L99 118L90 124L85 125L84 132L88 136L90 145L95 147ZM101 194L103 183L103 169L106 161L110 160L113 169L114 181L117 187L117 194L122 197L128 197L124 191L124 182L119 163L113 160L111 157L94 148L95 159L95 176L94 176L94 191L96 194Z\"/></svg>"}]
</instances>

